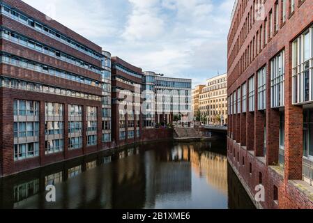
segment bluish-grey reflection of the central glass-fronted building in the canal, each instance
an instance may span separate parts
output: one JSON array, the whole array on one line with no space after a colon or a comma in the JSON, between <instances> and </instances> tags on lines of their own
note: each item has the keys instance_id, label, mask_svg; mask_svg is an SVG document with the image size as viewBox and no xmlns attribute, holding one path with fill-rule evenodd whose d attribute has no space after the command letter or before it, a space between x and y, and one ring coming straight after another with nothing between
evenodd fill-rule
<instances>
[{"instance_id":1,"label":"bluish-grey reflection of the central glass-fronted building in the canal","mask_svg":"<svg viewBox=\"0 0 313 223\"><path fill-rule=\"evenodd\" d=\"M146 208L154 208L162 197L183 200L192 189L190 148L176 145L171 150L148 151L146 163Z\"/></svg>"}]
</instances>

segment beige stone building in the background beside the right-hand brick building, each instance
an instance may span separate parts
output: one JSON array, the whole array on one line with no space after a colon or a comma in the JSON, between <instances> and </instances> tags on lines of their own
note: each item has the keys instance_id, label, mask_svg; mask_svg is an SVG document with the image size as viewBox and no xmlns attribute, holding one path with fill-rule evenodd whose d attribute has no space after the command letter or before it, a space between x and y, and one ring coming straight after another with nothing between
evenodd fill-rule
<instances>
[{"instance_id":1,"label":"beige stone building in the background beside the right-hand brick building","mask_svg":"<svg viewBox=\"0 0 313 223\"><path fill-rule=\"evenodd\" d=\"M224 125L227 123L227 74L206 80L199 94L201 123Z\"/></svg>"}]
</instances>

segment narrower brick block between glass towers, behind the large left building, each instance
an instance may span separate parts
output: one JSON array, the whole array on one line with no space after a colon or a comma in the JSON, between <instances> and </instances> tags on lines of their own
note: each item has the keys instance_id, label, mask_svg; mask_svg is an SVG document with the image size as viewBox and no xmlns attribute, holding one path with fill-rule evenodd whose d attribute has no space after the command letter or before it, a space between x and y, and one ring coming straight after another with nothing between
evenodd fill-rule
<instances>
[{"instance_id":1,"label":"narrower brick block between glass towers, behind the large left building","mask_svg":"<svg viewBox=\"0 0 313 223\"><path fill-rule=\"evenodd\" d=\"M115 145L140 140L142 79L141 68L112 57L112 141Z\"/></svg>"}]
</instances>

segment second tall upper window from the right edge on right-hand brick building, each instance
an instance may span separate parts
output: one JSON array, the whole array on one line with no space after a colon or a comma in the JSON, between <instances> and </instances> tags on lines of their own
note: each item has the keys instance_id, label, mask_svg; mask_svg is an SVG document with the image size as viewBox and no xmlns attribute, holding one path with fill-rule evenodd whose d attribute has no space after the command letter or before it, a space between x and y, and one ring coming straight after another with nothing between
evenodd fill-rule
<instances>
[{"instance_id":1,"label":"second tall upper window from the right edge on right-hand brick building","mask_svg":"<svg viewBox=\"0 0 313 223\"><path fill-rule=\"evenodd\" d=\"M270 61L270 104L284 106L284 50Z\"/></svg>"}]
</instances>

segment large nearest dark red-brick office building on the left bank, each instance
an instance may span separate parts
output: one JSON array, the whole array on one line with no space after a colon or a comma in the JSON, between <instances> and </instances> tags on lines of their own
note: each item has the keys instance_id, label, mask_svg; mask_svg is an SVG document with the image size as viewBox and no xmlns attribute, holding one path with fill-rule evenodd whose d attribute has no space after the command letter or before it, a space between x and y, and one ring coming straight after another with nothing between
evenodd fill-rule
<instances>
[{"instance_id":1,"label":"large nearest dark red-brick office building on the left bank","mask_svg":"<svg viewBox=\"0 0 313 223\"><path fill-rule=\"evenodd\" d=\"M100 151L101 47L22 1L0 5L0 175Z\"/></svg>"}]
</instances>

